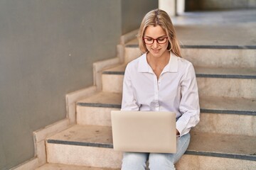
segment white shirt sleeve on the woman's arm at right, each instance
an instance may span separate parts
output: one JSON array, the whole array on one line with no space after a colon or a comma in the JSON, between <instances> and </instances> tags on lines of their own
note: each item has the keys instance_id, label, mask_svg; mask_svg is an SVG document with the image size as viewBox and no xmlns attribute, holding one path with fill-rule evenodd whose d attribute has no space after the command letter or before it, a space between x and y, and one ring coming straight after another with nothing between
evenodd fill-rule
<instances>
[{"instance_id":1,"label":"white shirt sleeve on the woman's arm at right","mask_svg":"<svg viewBox=\"0 0 256 170\"><path fill-rule=\"evenodd\" d=\"M181 80L181 103L179 106L181 117L176 122L176 128L182 135L186 135L200 120L200 107L198 86L193 65L190 63L186 68Z\"/></svg>"}]
</instances>

